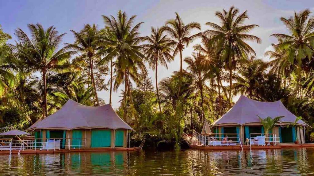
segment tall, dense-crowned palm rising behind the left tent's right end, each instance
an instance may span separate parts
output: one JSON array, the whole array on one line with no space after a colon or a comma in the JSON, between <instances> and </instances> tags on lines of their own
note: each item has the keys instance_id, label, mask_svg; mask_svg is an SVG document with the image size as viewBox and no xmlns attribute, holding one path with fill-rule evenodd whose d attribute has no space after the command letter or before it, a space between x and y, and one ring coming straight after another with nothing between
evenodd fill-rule
<instances>
[{"instance_id":1,"label":"tall, dense-crowned palm rising behind the left tent's right end","mask_svg":"<svg viewBox=\"0 0 314 176\"><path fill-rule=\"evenodd\" d=\"M127 93L133 104L130 78L135 83L138 83L138 71L147 72L143 63L145 56L141 53L144 48L139 45L144 40L143 37L139 36L140 33L138 32L142 23L138 23L132 28L135 17L133 15L131 18L128 18L127 14L125 12L122 13L121 10L118 12L117 18L103 15L106 27L112 31L112 36L111 38L99 39L97 42L102 45L106 44L109 47L107 56L100 62L116 58L116 61L113 63L114 72L116 73L113 76L115 78L113 90L116 91L124 83L124 91L126 92L124 94L124 105L126 104ZM124 119L126 119L125 116L126 108L124 108Z\"/></svg>"}]
</instances>

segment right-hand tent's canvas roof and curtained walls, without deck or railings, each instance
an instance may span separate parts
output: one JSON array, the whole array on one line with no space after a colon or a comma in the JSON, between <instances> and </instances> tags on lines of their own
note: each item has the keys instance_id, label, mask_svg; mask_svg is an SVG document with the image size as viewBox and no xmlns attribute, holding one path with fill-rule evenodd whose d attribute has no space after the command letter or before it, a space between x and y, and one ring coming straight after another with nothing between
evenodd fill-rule
<instances>
[{"instance_id":1,"label":"right-hand tent's canvas roof and curtained walls, without deck or railings","mask_svg":"<svg viewBox=\"0 0 314 176\"><path fill-rule=\"evenodd\" d=\"M276 141L280 143L296 140L305 143L304 128L308 125L302 120L295 123L297 117L287 110L281 101L261 102L241 95L236 104L210 126L218 133L240 134L244 143L246 138L250 138L250 134L267 133L258 116L261 118L284 116L269 133L276 134L276 137L279 137L279 141ZM291 125L294 123L295 125Z\"/></svg>"}]
</instances>

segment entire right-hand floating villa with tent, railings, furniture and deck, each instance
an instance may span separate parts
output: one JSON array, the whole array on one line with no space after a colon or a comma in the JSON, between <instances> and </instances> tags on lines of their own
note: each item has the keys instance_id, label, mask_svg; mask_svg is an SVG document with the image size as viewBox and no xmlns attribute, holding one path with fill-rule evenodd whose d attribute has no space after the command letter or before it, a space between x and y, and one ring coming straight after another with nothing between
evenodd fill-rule
<instances>
[{"instance_id":1,"label":"entire right-hand floating villa with tent, railings, furniture and deck","mask_svg":"<svg viewBox=\"0 0 314 176\"><path fill-rule=\"evenodd\" d=\"M265 132L260 118L283 116L279 123ZM209 127L206 127L209 126ZM287 110L281 101L261 102L241 95L236 104L212 124L204 123L202 134L184 134L191 147L215 149L229 148L280 148L305 145L305 127L308 125ZM210 132L204 132L205 129ZM206 131L206 130L205 130ZM295 144L296 143L296 144ZM313 145L313 144L311 144ZM308 145L306 145L308 146Z\"/></svg>"}]
</instances>

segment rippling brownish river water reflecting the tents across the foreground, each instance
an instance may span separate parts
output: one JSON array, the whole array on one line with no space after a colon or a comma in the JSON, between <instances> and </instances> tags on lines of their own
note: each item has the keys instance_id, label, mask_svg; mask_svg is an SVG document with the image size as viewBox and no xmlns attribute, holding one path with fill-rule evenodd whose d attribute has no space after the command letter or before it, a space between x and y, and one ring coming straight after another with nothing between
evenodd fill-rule
<instances>
[{"instance_id":1,"label":"rippling brownish river water reflecting the tents across the foreground","mask_svg":"<svg viewBox=\"0 0 314 176\"><path fill-rule=\"evenodd\" d=\"M0 175L314 175L314 148L0 155Z\"/></svg>"}]
</instances>

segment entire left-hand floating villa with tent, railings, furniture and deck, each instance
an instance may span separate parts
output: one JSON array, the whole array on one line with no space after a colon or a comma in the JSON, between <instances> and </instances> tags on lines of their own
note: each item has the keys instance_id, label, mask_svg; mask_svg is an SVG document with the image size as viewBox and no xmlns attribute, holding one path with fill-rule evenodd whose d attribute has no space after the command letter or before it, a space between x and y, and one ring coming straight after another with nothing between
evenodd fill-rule
<instances>
[{"instance_id":1,"label":"entire left-hand floating villa with tent, railings, furniture and deck","mask_svg":"<svg viewBox=\"0 0 314 176\"><path fill-rule=\"evenodd\" d=\"M33 138L3 143L24 153L138 150L129 148L128 132L131 130L110 104L93 107L69 99L60 110L26 130Z\"/></svg>"}]
</instances>

